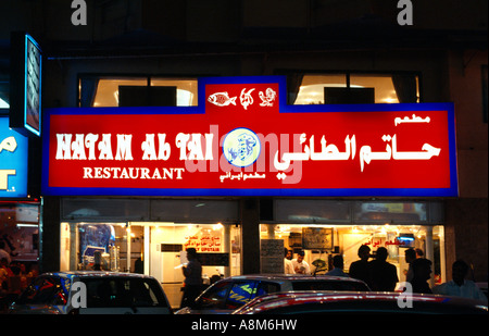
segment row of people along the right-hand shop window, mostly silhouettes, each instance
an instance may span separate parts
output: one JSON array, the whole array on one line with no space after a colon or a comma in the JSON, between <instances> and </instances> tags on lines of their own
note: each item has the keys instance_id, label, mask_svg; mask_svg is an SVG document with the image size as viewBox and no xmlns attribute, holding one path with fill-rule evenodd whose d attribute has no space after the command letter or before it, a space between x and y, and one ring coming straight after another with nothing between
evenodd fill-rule
<instances>
[{"instance_id":1,"label":"row of people along the right-hand shop window, mostly silhouettes","mask_svg":"<svg viewBox=\"0 0 489 336\"><path fill-rule=\"evenodd\" d=\"M343 272L343 258L337 254L333 258L333 269L326 275L349 276L365 282L375 291L394 291L399 283L396 265L387 261L388 250L379 247L376 250L375 259L372 258L371 248L362 245L359 248L360 260L350 264L349 273ZM476 300L487 301L486 295L477 285L466 278L469 266L463 260L457 260L452 265L451 281L434 286L429 286L431 277L431 261L424 258L421 249L409 248L405 250L405 261L409 269L405 272L406 282L411 284L412 291L417 294L440 294L447 296L457 296ZM285 273L286 274L311 274L309 264L304 261L304 251L299 251L297 258L292 259L292 251L285 248Z\"/></svg>"}]
</instances>

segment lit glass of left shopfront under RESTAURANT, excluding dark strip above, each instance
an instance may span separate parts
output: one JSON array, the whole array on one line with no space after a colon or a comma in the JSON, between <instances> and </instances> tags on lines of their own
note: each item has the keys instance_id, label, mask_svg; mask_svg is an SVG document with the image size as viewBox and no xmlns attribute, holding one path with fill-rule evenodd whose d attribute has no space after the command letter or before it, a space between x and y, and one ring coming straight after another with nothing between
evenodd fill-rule
<instances>
[{"instance_id":1,"label":"lit glass of left shopfront under RESTAURANT, excluding dark strip above","mask_svg":"<svg viewBox=\"0 0 489 336\"><path fill-rule=\"evenodd\" d=\"M181 251L196 248L204 283L241 274L239 225L165 222L61 223L61 271L108 270L155 277L173 307L181 299ZM99 266L100 265L100 266Z\"/></svg>"}]
</instances>

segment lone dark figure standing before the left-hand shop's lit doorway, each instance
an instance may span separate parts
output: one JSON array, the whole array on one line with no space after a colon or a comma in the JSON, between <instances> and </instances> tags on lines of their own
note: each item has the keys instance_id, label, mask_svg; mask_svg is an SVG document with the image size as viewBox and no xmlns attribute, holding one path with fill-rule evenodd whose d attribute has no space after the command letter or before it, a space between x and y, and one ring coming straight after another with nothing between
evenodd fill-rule
<instances>
[{"instance_id":1,"label":"lone dark figure standing before the left-hand shop's lit doorway","mask_svg":"<svg viewBox=\"0 0 489 336\"><path fill-rule=\"evenodd\" d=\"M195 248L187 249L187 265L181 267L185 276L181 308L191 308L197 297L202 291L202 265L198 260L197 250Z\"/></svg>"}]
</instances>

